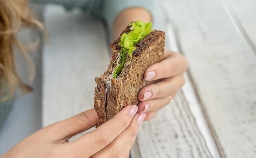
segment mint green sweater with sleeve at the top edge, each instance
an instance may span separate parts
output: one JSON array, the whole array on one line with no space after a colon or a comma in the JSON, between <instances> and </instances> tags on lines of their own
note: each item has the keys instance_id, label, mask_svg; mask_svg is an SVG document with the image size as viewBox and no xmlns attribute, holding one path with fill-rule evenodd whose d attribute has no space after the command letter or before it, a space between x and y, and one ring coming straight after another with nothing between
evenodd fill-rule
<instances>
[{"instance_id":1,"label":"mint green sweater with sleeve at the top edge","mask_svg":"<svg viewBox=\"0 0 256 158\"><path fill-rule=\"evenodd\" d=\"M126 8L139 7L150 11L153 7L153 0L31 0L31 2L59 4L67 10L79 8L104 20L108 28L112 28L115 17ZM12 105L11 100L0 103L0 126L11 111Z\"/></svg>"}]
</instances>

